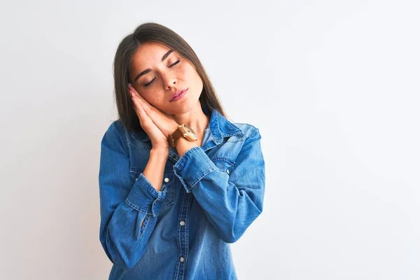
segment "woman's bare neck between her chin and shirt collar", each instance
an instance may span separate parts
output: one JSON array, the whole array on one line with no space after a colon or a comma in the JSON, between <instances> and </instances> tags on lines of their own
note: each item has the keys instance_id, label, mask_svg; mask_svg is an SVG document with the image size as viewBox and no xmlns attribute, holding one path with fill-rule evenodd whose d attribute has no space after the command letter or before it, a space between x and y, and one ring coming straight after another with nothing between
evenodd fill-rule
<instances>
[{"instance_id":1,"label":"woman's bare neck between her chin and shirt collar","mask_svg":"<svg viewBox=\"0 0 420 280\"><path fill-rule=\"evenodd\" d=\"M185 123L197 134L204 133L204 130L209 125L210 120L209 116L203 112L200 101L197 102L197 105L192 110L186 113L174 114L171 116L176 121L176 123L179 125Z\"/></svg>"}]
</instances>

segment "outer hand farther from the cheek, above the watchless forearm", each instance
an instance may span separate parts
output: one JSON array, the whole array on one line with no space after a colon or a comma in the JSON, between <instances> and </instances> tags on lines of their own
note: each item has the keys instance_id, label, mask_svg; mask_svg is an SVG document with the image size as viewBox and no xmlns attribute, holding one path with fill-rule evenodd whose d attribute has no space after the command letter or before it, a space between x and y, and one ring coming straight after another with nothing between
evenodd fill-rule
<instances>
[{"instance_id":1,"label":"outer hand farther from the cheek, above the watchless forearm","mask_svg":"<svg viewBox=\"0 0 420 280\"><path fill-rule=\"evenodd\" d=\"M134 92L130 91L134 103L134 111L136 111L137 117L140 121L140 126L148 134L148 137L152 141L152 148L155 151L162 150L169 153L169 142L165 134L153 123L153 120L146 114L144 108L139 101L139 98Z\"/></svg>"}]
</instances>

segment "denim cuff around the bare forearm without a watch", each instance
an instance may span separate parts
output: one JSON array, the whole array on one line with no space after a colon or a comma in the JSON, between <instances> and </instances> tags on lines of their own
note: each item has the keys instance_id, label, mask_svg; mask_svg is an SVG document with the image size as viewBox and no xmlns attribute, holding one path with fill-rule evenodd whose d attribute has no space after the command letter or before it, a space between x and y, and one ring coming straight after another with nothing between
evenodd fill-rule
<instances>
[{"instance_id":1,"label":"denim cuff around the bare forearm without a watch","mask_svg":"<svg viewBox=\"0 0 420 280\"><path fill-rule=\"evenodd\" d=\"M130 207L144 214L159 215L162 210L162 200L167 196L167 190L156 190L143 173L134 182L125 202Z\"/></svg>"}]
</instances>

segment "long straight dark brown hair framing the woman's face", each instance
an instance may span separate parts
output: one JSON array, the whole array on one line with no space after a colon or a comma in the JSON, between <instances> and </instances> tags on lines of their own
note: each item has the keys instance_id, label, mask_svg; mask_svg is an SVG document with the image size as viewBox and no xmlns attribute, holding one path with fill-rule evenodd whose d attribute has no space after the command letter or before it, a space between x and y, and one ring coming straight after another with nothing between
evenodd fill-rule
<instances>
[{"instance_id":1,"label":"long straight dark brown hair framing the woman's face","mask_svg":"<svg viewBox=\"0 0 420 280\"><path fill-rule=\"evenodd\" d=\"M130 62L134 52L144 42L157 42L166 45L176 51L193 64L203 82L203 90L200 95L200 104L204 113L217 109L221 115L226 116L220 100L206 71L195 54L193 48L179 34L171 29L155 22L146 22L137 27L134 32L127 35L118 45L113 62L113 77L115 98L119 120L122 120L127 129L141 130L139 118L133 108L133 102L129 94Z\"/></svg>"}]
</instances>

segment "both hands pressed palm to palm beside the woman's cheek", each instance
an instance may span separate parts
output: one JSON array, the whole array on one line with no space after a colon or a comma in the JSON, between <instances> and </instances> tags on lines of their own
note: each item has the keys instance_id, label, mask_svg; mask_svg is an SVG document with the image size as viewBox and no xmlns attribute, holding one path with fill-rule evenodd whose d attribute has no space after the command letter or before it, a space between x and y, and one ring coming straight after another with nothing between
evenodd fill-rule
<instances>
[{"instance_id":1,"label":"both hands pressed palm to palm beside the woman's cheek","mask_svg":"<svg viewBox=\"0 0 420 280\"><path fill-rule=\"evenodd\" d=\"M167 137L176 130L178 123L149 104L130 83L128 88L134 102L134 109L140 120L140 125L151 138L153 148L169 148Z\"/></svg>"}]
</instances>

